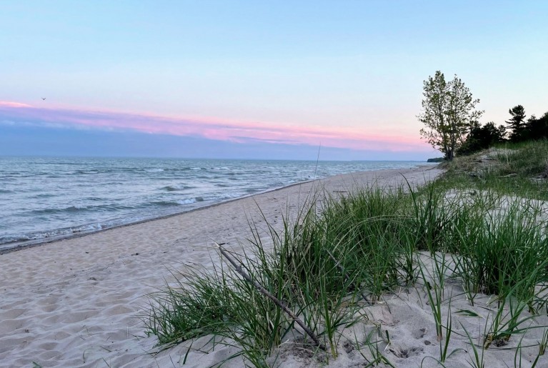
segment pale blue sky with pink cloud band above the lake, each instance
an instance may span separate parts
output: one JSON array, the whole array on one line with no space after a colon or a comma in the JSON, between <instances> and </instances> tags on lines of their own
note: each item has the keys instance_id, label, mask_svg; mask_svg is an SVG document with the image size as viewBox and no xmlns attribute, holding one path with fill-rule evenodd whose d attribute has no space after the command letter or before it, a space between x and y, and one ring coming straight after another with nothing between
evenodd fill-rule
<instances>
[{"instance_id":1,"label":"pale blue sky with pink cloud band above the lake","mask_svg":"<svg viewBox=\"0 0 548 368\"><path fill-rule=\"evenodd\" d=\"M548 1L0 5L0 155L422 160L437 70L548 111Z\"/></svg>"}]
</instances>

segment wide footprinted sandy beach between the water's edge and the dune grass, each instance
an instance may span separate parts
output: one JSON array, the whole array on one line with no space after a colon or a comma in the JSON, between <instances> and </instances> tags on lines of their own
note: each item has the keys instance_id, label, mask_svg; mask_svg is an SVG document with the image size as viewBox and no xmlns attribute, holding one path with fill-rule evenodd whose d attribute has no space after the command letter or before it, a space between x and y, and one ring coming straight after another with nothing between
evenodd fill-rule
<instances>
[{"instance_id":1,"label":"wide footprinted sandy beach between the water's edge and the dune grass","mask_svg":"<svg viewBox=\"0 0 548 368\"><path fill-rule=\"evenodd\" d=\"M432 166L340 174L1 254L0 362L6 367L32 362L43 367L105 362L173 367L171 362L184 357L184 346L148 354L157 339L145 336L147 295L174 282L174 274L187 267L217 267L214 242L242 249L250 225L261 230L265 222L279 226L318 190L337 195L358 186L397 187L404 178L414 186L441 173ZM185 367L211 366L224 354L226 349L191 352Z\"/></svg>"}]
</instances>

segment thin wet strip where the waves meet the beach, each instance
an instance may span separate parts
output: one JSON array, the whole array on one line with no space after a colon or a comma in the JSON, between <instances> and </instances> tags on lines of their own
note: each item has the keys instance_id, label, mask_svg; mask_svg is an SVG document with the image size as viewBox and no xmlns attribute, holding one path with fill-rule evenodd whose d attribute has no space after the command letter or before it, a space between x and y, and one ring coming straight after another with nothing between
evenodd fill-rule
<instances>
[{"instance_id":1,"label":"thin wet strip where the waves meet the beach","mask_svg":"<svg viewBox=\"0 0 548 368\"><path fill-rule=\"evenodd\" d=\"M350 175L350 174L356 174L356 173L360 173L360 172L371 172L371 171L379 171L380 172L380 171L390 171L390 170L413 170L413 169L417 169L417 168L421 168L421 167L429 167L431 169L435 169L437 167L437 165L423 164L423 165L417 165L415 167L406 168L406 169L356 171L355 173L350 172L350 173L347 173L347 174L337 174L337 175L334 175L334 176ZM329 178L334 177L334 176L327 176L327 177L321 178L321 179L310 179L310 180L305 180L305 181L299 181L297 183L288 184L288 185L285 185L283 187L275 187L275 188L266 189L264 191L257 192L257 193L246 194L246 195L244 195L242 197L238 197L238 198L226 199L225 201L222 201L222 202L206 204L203 207L196 207L196 208L184 210L184 211L181 211L181 212L174 212L172 214L161 215L159 217L151 217L149 219L141 219L141 220L138 220L138 221L135 221L135 222L117 224L117 225L114 225L114 226L111 226L111 227L105 227L105 228L101 228L101 229L89 230L89 231L84 231L84 232L76 232L76 233L71 233L71 234L66 234L66 235L58 235L56 237L46 237L46 238L41 238L41 239L29 239L29 240L22 241L22 242L4 243L4 244L0 244L0 255L11 253L11 252L18 252L22 249L27 249L27 248L32 248L32 247L41 247L41 246L44 246L46 244L51 244L51 243L54 243L54 242L60 242L61 240L64 240L64 239L74 239L74 238L79 238L79 237L86 237L87 235L90 235L90 234L96 234L96 233L99 233L99 232L106 232L107 230L111 230L111 229L119 229L121 227L128 227L128 226L132 226L132 225L144 224L146 222L151 222L151 221L156 221L156 220L161 220L161 219L169 219L170 217L179 216L181 214L196 212L196 211L199 211L201 209L208 209L208 208L211 208L211 207L219 206L221 204L226 204L226 203L230 203L230 202L234 202L234 201L239 201L240 199L246 199L246 198L249 198L249 197L259 196L261 194L266 194L266 193L270 193L270 192L277 192L279 190L291 188L291 187L294 187L294 186L297 186L297 185L302 185L302 184L307 184L307 183L314 182L314 181L321 181L321 180L324 180L324 179L329 179ZM10 244L12 244L12 245L10 245Z\"/></svg>"}]
</instances>

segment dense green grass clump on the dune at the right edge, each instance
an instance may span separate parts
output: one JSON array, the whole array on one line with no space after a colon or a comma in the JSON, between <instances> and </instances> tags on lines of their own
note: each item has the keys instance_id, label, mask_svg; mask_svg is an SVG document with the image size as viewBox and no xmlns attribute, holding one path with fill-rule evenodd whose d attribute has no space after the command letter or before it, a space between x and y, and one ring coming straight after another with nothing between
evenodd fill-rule
<instances>
[{"instance_id":1,"label":"dense green grass clump on the dune at the right edge","mask_svg":"<svg viewBox=\"0 0 548 368\"><path fill-rule=\"evenodd\" d=\"M534 222L538 205L531 200L490 195L494 196L493 209L479 205L481 199L468 205L468 229L459 229L458 253L453 256L456 274L472 305L479 292L506 294L548 257L548 242ZM532 280L535 284L547 276L543 272L536 275L539 278ZM531 289L522 288L521 292L525 295Z\"/></svg>"}]
</instances>

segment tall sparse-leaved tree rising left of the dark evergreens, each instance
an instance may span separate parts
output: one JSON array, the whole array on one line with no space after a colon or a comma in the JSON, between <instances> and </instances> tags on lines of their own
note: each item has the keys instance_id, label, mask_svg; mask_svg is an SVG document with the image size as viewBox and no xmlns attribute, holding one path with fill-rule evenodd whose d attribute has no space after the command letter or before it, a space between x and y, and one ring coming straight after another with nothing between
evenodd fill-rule
<instances>
[{"instance_id":1,"label":"tall sparse-leaved tree rising left of the dark evergreens","mask_svg":"<svg viewBox=\"0 0 548 368\"><path fill-rule=\"evenodd\" d=\"M477 121L483 114L475 109L479 99L472 98L472 93L457 75L446 82L441 71L424 81L422 95L423 111L417 116L424 123L420 134L434 148L439 148L446 159L452 160L455 151L464 143L472 121Z\"/></svg>"}]
</instances>

